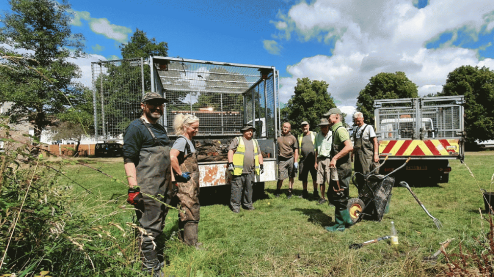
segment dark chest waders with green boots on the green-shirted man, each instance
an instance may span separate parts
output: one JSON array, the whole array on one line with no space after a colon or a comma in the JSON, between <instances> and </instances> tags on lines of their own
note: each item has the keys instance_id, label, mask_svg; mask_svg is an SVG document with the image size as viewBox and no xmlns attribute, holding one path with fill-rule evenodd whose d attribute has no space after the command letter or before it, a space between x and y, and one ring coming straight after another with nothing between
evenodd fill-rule
<instances>
[{"instance_id":1,"label":"dark chest waders with green boots on the green-shirted man","mask_svg":"<svg viewBox=\"0 0 494 277\"><path fill-rule=\"evenodd\" d=\"M333 132L331 157L334 157L345 147L344 142L340 142L339 144L334 143L334 137L337 136L338 129L342 127L343 126L339 126ZM331 180L329 186L332 189L328 189L329 203L334 205L335 221L333 226L326 227L326 230L330 232L344 231L345 227L350 227L353 224L352 218L350 217L350 212L348 212L346 207L348 205L348 184L350 183L350 177L352 175L352 164L349 154L339 158L336 161L336 171L338 173L339 186L338 182Z\"/></svg>"}]
</instances>

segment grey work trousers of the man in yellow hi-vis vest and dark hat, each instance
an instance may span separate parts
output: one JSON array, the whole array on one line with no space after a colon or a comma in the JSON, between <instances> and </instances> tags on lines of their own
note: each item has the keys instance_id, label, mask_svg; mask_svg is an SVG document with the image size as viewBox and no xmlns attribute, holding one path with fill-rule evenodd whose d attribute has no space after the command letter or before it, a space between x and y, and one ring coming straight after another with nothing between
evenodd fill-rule
<instances>
[{"instance_id":1,"label":"grey work trousers of the man in yellow hi-vis vest and dark hat","mask_svg":"<svg viewBox=\"0 0 494 277\"><path fill-rule=\"evenodd\" d=\"M254 182L254 172L232 176L232 189L230 206L232 209L239 209L241 200L245 207L252 207L252 184Z\"/></svg>"}]
</instances>

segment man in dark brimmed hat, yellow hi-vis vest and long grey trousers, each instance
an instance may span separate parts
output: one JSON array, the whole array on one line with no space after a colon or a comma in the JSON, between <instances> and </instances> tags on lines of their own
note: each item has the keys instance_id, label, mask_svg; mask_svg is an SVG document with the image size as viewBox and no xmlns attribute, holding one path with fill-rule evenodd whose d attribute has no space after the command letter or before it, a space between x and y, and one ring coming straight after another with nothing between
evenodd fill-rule
<instances>
[{"instance_id":1,"label":"man in dark brimmed hat, yellow hi-vis vest and long grey trousers","mask_svg":"<svg viewBox=\"0 0 494 277\"><path fill-rule=\"evenodd\" d=\"M261 148L257 140L252 138L255 130L250 124L244 125L241 130L243 135L234 138L228 147L227 168L233 175L230 206L235 213L240 212L241 202L247 210L254 209L252 206L254 173L259 175L264 172Z\"/></svg>"}]
</instances>

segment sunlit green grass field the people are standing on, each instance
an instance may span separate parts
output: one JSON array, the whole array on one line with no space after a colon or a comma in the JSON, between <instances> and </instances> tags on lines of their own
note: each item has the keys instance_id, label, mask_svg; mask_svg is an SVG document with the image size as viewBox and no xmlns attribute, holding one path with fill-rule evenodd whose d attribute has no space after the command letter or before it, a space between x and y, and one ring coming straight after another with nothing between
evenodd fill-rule
<instances>
[{"instance_id":1,"label":"sunlit green grass field the people are standing on","mask_svg":"<svg viewBox=\"0 0 494 277\"><path fill-rule=\"evenodd\" d=\"M196 250L178 241L177 212L170 210L166 218L165 255L166 276L446 276L444 256L431 265L422 262L439 249L439 242L455 239L447 252L458 252L462 247L476 248L474 238L485 238L489 223L482 219L484 202L479 189L492 190L494 152L467 153L465 164L453 160L453 171L447 184L412 186L412 190L430 213L443 224L437 230L431 218L416 203L410 192L394 187L389 213L381 222L361 221L344 232L329 233L324 227L331 222L334 208L318 205L316 201L298 197L287 199L283 194L275 198L275 182L266 183L266 196L254 203L255 210L230 211L224 204L201 207L199 240L203 249ZM86 159L92 167L125 180L122 159ZM96 162L97 163L94 163ZM102 226L120 244L122 259L116 259L112 270L132 267L137 253L133 248L132 230L127 225L135 220L134 212L126 205L126 186L94 170L70 166L66 174L94 195L72 184L80 197L81 208ZM300 195L302 184L295 181L295 193ZM288 189L285 180L284 191ZM204 197L218 197L209 194ZM309 193L312 184L309 181ZM357 190L351 185L350 197ZM205 199L205 202L225 203L228 199ZM394 221L399 234L399 245L381 241L361 249L349 249L352 243L362 243L389 235L390 222ZM120 225L124 232L110 223ZM125 245L125 247L122 247ZM123 250L122 250L123 249ZM104 276L105 269L100 269Z\"/></svg>"}]
</instances>

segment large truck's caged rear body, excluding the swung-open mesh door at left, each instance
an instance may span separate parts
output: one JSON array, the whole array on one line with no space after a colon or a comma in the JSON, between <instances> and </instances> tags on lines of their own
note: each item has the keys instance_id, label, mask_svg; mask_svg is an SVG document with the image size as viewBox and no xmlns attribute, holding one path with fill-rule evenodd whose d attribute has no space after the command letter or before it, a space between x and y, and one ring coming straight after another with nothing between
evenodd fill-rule
<instances>
[{"instance_id":1,"label":"large truck's caged rear body, excluding the swung-open mesh door at left","mask_svg":"<svg viewBox=\"0 0 494 277\"><path fill-rule=\"evenodd\" d=\"M275 67L221 63L170 57L150 57L151 90L168 100L163 116L170 138L177 113L200 119L196 140L211 139L227 146L241 136L246 123L256 128L254 138L264 153L264 173L254 189L276 180L275 143L280 130L278 74ZM200 186L230 184L227 161L201 162Z\"/></svg>"}]
</instances>

